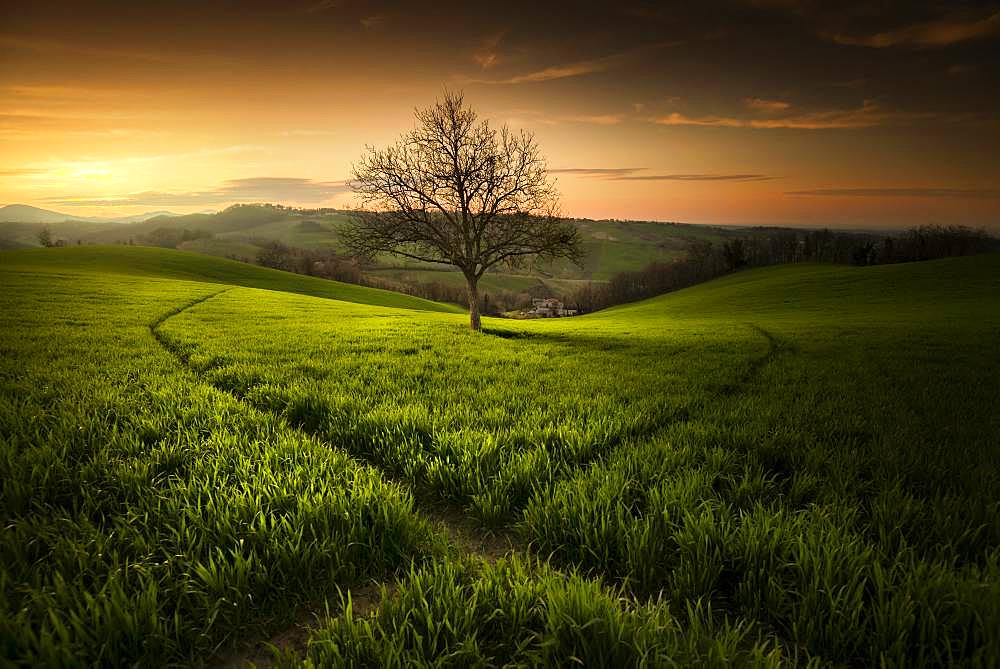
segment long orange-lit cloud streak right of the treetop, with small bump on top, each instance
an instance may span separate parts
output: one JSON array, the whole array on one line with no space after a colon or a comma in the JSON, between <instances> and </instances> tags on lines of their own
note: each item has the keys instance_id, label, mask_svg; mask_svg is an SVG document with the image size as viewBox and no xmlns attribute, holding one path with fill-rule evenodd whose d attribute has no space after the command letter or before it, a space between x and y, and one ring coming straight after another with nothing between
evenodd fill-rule
<instances>
[{"instance_id":1,"label":"long orange-lit cloud streak right of the treetop, with small bump on top","mask_svg":"<svg viewBox=\"0 0 1000 669\"><path fill-rule=\"evenodd\" d=\"M794 130L831 130L874 128L935 118L934 114L897 112L866 100L855 109L832 109L791 114L775 118L742 118L736 116L688 116L675 112L654 119L660 125L705 126L719 128L756 128Z\"/></svg>"}]
</instances>

